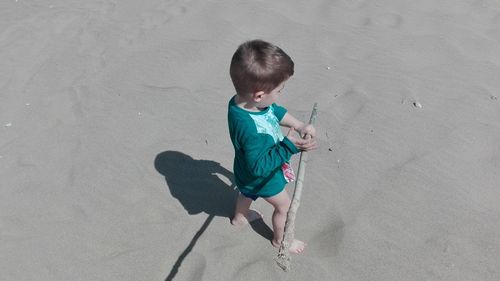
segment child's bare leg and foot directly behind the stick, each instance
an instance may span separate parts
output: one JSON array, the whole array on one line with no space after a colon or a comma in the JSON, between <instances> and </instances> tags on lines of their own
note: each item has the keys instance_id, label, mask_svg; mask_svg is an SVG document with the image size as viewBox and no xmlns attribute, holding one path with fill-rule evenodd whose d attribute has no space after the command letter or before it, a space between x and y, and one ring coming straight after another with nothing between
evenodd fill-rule
<instances>
[{"instance_id":1,"label":"child's bare leg and foot directly behind the stick","mask_svg":"<svg viewBox=\"0 0 500 281\"><path fill-rule=\"evenodd\" d=\"M290 197L288 196L288 193L283 190L272 197L264 199L274 207L272 218L274 236L272 244L274 247L279 248L281 241L283 241L283 234L285 232L286 214L288 212L288 208L290 208ZM294 239L292 245L290 245L290 252L295 254L301 253L305 246L304 242Z\"/></svg>"}]
</instances>

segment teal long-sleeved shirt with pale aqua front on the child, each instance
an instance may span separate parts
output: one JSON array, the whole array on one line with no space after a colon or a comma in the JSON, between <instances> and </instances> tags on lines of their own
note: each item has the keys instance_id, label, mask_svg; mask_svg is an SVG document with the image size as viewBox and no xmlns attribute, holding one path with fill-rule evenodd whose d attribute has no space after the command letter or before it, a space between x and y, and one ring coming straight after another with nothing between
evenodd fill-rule
<instances>
[{"instance_id":1,"label":"teal long-sleeved shirt with pale aqua front on the child","mask_svg":"<svg viewBox=\"0 0 500 281\"><path fill-rule=\"evenodd\" d=\"M229 101L229 135L235 151L233 171L241 192L270 197L285 188L281 165L299 152L281 132L279 122L286 112L276 104L252 112L238 107L234 97Z\"/></svg>"}]
</instances>

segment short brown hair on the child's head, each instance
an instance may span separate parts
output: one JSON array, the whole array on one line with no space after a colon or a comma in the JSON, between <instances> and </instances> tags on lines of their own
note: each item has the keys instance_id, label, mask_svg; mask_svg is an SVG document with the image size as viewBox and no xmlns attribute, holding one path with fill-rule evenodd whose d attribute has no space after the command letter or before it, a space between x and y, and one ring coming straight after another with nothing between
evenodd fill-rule
<instances>
[{"instance_id":1,"label":"short brown hair on the child's head","mask_svg":"<svg viewBox=\"0 0 500 281\"><path fill-rule=\"evenodd\" d=\"M292 59L279 47L252 40L238 47L229 74L238 95L269 93L293 75L293 66Z\"/></svg>"}]
</instances>

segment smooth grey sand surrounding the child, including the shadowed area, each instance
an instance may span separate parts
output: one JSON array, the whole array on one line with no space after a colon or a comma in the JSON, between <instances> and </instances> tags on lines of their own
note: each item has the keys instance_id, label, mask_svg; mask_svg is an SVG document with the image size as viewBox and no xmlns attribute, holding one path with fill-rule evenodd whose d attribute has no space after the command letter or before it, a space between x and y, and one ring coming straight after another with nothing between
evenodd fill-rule
<instances>
[{"instance_id":1,"label":"smooth grey sand surrounding the child, including the shadowed area","mask_svg":"<svg viewBox=\"0 0 500 281\"><path fill-rule=\"evenodd\" d=\"M288 273L229 223L254 38L319 104ZM500 280L499 77L493 0L2 1L0 280Z\"/></svg>"}]
</instances>

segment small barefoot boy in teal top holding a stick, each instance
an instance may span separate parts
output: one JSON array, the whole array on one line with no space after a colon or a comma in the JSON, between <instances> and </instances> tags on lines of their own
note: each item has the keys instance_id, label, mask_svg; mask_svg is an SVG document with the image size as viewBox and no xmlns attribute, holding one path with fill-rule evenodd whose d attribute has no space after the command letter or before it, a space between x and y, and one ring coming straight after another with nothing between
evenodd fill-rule
<instances>
[{"instance_id":1,"label":"small barefoot boy in teal top holding a stick","mask_svg":"<svg viewBox=\"0 0 500 281\"><path fill-rule=\"evenodd\" d=\"M230 67L236 95L229 101L228 125L235 150L234 176L240 191L231 223L244 225L260 218L250 205L262 197L274 207L274 247L281 245L290 207L285 185L294 180L294 175L288 161L301 150L316 148L314 127L274 103L293 75L293 67L292 59L283 50L262 40L241 44ZM287 136L283 136L280 125L290 128ZM304 247L304 242L294 240L290 252L300 253Z\"/></svg>"}]
</instances>

